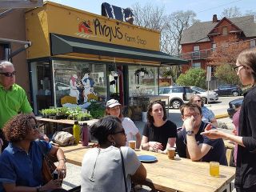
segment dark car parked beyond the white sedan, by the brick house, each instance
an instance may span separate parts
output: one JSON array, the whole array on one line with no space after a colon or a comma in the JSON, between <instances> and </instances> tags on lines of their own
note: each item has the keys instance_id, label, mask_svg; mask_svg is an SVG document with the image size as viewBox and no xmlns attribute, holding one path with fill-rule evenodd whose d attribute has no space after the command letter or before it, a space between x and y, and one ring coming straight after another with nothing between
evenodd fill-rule
<instances>
[{"instance_id":1,"label":"dark car parked beyond the white sedan, by the brick house","mask_svg":"<svg viewBox=\"0 0 256 192\"><path fill-rule=\"evenodd\" d=\"M214 90L219 96L221 95L233 95L239 96L242 94L242 89L238 85L221 85L218 86L217 90Z\"/></svg>"}]
</instances>

